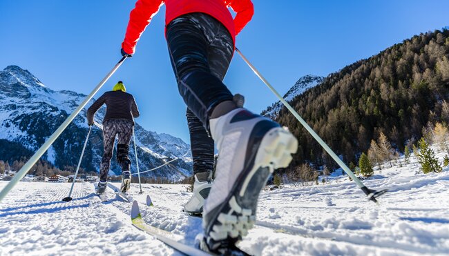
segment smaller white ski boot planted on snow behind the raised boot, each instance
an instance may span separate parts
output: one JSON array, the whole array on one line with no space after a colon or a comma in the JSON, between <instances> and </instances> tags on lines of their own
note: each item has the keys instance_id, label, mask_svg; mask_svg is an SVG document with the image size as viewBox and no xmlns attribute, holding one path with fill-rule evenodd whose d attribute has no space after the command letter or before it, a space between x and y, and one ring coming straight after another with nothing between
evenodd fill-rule
<instances>
[{"instance_id":1,"label":"smaller white ski boot planted on snow behind the raised boot","mask_svg":"<svg viewBox=\"0 0 449 256\"><path fill-rule=\"evenodd\" d=\"M212 186L212 179L209 178L209 173L195 174L195 183L193 184L193 195L191 199L184 205L184 212L193 216L202 216L202 206L204 200L209 195Z\"/></svg>"}]
</instances>

